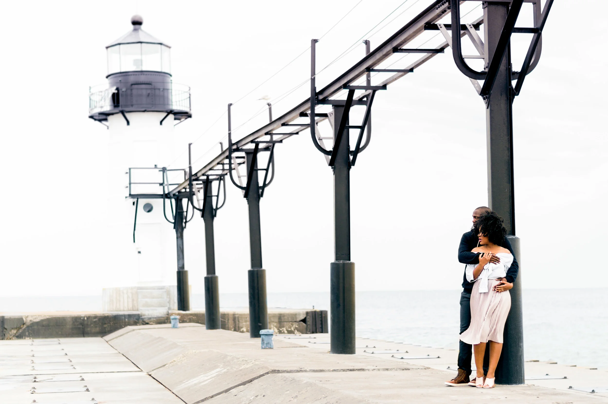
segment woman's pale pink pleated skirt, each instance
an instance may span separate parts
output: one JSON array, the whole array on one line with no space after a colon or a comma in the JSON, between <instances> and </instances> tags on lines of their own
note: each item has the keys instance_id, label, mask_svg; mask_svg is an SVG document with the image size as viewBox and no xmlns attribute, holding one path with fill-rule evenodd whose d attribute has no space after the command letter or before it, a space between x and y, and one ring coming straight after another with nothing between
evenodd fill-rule
<instances>
[{"instance_id":1,"label":"woman's pale pink pleated skirt","mask_svg":"<svg viewBox=\"0 0 608 404\"><path fill-rule=\"evenodd\" d=\"M498 293L492 289L500 282L488 279L488 292L479 293L480 281L471 292L471 325L460 334L460 340L471 345L494 341L502 343L506 317L511 309L509 291Z\"/></svg>"}]
</instances>

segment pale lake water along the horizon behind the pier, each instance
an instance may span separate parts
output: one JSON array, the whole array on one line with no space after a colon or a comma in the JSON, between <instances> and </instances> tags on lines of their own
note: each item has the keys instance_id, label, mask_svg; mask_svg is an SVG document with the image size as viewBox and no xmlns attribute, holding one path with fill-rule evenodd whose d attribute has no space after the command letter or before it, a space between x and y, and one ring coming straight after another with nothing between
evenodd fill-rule
<instances>
[{"instance_id":1,"label":"pale lake water along the horizon behind the pier","mask_svg":"<svg viewBox=\"0 0 608 404\"><path fill-rule=\"evenodd\" d=\"M357 292L358 337L458 348L459 290ZM222 307L246 307L246 293L220 295ZM193 309L204 295L193 295ZM327 310L329 293L269 293L268 307ZM523 291L526 360L608 367L608 289ZM101 309L101 296L0 298L0 312Z\"/></svg>"}]
</instances>

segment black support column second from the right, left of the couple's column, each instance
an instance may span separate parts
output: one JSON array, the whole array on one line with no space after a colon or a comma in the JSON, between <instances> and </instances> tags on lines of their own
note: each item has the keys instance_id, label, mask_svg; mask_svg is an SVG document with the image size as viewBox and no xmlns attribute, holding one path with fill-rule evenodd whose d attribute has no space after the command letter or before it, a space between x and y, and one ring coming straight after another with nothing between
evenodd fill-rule
<instances>
[{"instance_id":1,"label":"black support column second from the right, left of the couple's column","mask_svg":"<svg viewBox=\"0 0 608 404\"><path fill-rule=\"evenodd\" d=\"M344 112L334 106L334 139ZM330 265L331 353L354 354L354 262L350 261L350 157L348 129L334 164L334 255Z\"/></svg>"}]
</instances>

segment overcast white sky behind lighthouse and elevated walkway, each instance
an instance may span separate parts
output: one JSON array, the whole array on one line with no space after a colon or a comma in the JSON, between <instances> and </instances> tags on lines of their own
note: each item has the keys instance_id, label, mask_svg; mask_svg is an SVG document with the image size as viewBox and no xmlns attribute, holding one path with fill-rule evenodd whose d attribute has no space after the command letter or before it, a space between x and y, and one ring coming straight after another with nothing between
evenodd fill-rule
<instances>
[{"instance_id":1,"label":"overcast white sky behind lighthouse and elevated walkway","mask_svg":"<svg viewBox=\"0 0 608 404\"><path fill-rule=\"evenodd\" d=\"M372 47L406 24L430 0L408 0L365 38ZM317 44L319 69L364 36L402 0L363 0ZM478 2L463 6L463 14ZM2 146L4 166L0 294L98 295L126 286L99 258L107 131L88 118L89 86L105 83L105 46L131 28L172 46L173 80L192 87L193 118L174 131L185 150L195 142L196 168L215 156L226 135L226 109L319 38L355 1L29 1L3 5ZM529 4L525 5L527 7ZM606 17L599 0L556 1L542 57L514 103L517 236L526 288L602 286L608 264L582 258L606 250L608 174ZM409 10L406 10L411 7ZM403 12L401 15L399 13ZM525 9L529 13L529 10ZM465 17L475 19L480 8ZM384 24L391 21L388 26ZM603 21L603 22L602 22ZM528 24L522 21L519 25ZM584 29L576 29L584 24ZM419 43L437 32L426 32ZM370 35L374 34L370 37ZM528 36L516 40L514 65ZM429 45L442 39L436 37ZM416 43L419 44L419 43ZM434 45L433 45L434 46ZM319 74L317 87L364 55L353 52ZM394 67L403 67L395 64ZM275 116L307 97L305 52L233 107L233 127L263 108ZM241 137L265 113L235 131ZM202 136L201 136L202 134ZM457 262L471 211L487 204L485 109L450 53L438 55L376 96L373 139L351 170L352 259L358 290L458 289ZM212 149L211 152L205 154ZM329 289L333 261L331 169L304 133L276 149L277 175L261 202L269 292ZM173 162L179 168L185 154ZM169 225L169 224L167 224ZM185 233L186 269L202 292L202 220ZM229 187L215 221L216 268L222 292L246 292L247 205ZM173 271L174 269L171 269ZM595 281L592 281L595 279Z\"/></svg>"}]
</instances>

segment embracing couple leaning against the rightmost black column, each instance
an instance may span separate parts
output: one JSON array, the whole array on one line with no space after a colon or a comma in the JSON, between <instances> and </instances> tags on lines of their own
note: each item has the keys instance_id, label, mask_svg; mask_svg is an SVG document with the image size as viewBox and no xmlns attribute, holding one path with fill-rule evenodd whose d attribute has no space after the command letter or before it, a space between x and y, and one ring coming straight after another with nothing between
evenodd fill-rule
<instances>
[{"instance_id":1,"label":"embracing couple leaning against the rightmost black column","mask_svg":"<svg viewBox=\"0 0 608 404\"><path fill-rule=\"evenodd\" d=\"M460 295L458 374L445 384L493 388L511 309L509 290L519 270L502 217L488 207L475 209L473 227L460 240L458 261L466 264ZM474 378L470 378L471 346L477 368Z\"/></svg>"}]
</instances>

